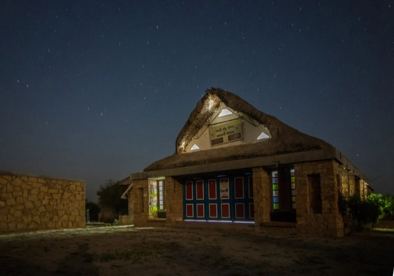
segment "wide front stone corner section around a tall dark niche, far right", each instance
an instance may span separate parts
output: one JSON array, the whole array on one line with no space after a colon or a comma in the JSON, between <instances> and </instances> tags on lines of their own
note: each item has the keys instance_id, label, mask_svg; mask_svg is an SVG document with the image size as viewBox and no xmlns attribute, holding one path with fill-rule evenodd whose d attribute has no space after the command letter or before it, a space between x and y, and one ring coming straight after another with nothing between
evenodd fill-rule
<instances>
[{"instance_id":1,"label":"wide front stone corner section around a tall dark niche, far right","mask_svg":"<svg viewBox=\"0 0 394 276\"><path fill-rule=\"evenodd\" d=\"M294 164L297 202L297 232L309 235L342 237L343 219L338 212L338 183L334 161ZM313 214L308 175L320 175L322 214Z\"/></svg>"}]
</instances>

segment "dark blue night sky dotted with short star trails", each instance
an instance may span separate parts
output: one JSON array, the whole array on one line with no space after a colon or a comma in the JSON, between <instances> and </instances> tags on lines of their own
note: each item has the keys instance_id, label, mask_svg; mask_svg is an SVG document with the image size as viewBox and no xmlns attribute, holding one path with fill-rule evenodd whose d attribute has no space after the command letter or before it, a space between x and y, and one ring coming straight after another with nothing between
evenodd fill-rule
<instances>
[{"instance_id":1,"label":"dark blue night sky dotted with short star trails","mask_svg":"<svg viewBox=\"0 0 394 276\"><path fill-rule=\"evenodd\" d=\"M0 2L0 170L95 201L173 154L212 86L394 194L394 0Z\"/></svg>"}]
</instances>

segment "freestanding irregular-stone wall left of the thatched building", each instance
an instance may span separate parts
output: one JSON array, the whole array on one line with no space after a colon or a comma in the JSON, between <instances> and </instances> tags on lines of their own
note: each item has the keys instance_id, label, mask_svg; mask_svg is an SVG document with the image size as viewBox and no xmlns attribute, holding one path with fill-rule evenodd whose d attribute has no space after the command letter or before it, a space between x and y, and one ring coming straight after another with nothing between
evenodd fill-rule
<instances>
[{"instance_id":1,"label":"freestanding irregular-stone wall left of the thatched building","mask_svg":"<svg viewBox=\"0 0 394 276\"><path fill-rule=\"evenodd\" d=\"M0 230L84 228L85 182L0 173Z\"/></svg>"}]
</instances>

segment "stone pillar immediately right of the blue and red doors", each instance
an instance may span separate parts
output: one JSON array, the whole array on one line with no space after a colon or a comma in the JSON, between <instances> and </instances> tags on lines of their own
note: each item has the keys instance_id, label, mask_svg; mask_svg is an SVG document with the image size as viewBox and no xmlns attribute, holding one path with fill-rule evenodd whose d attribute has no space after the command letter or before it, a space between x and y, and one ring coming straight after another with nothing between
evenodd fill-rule
<instances>
[{"instance_id":1,"label":"stone pillar immediately right of the blue and red doors","mask_svg":"<svg viewBox=\"0 0 394 276\"><path fill-rule=\"evenodd\" d=\"M271 179L263 168L253 168L253 204L255 207L255 227L269 222L271 212Z\"/></svg>"}]
</instances>

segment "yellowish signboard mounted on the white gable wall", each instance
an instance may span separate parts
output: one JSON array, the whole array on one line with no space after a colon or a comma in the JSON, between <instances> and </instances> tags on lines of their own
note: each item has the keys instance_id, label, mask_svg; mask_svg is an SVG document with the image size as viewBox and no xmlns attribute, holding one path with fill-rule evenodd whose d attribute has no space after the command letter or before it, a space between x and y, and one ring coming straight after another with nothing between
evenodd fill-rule
<instances>
[{"instance_id":1,"label":"yellowish signboard mounted on the white gable wall","mask_svg":"<svg viewBox=\"0 0 394 276\"><path fill-rule=\"evenodd\" d=\"M242 140L241 119L232 120L209 128L211 147Z\"/></svg>"}]
</instances>

